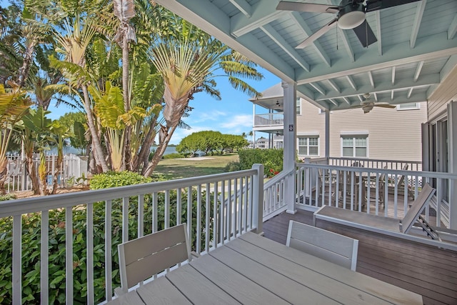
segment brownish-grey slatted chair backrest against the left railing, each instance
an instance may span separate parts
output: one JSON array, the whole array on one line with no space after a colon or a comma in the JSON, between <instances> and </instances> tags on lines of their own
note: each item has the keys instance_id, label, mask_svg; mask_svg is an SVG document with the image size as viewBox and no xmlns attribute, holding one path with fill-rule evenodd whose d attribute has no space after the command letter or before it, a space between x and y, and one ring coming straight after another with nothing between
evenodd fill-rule
<instances>
[{"instance_id":1,"label":"brownish-grey slatted chair backrest against the left railing","mask_svg":"<svg viewBox=\"0 0 457 305\"><path fill-rule=\"evenodd\" d=\"M119 244L118 250L124 292L154 274L192 259L186 224Z\"/></svg>"}]
</instances>

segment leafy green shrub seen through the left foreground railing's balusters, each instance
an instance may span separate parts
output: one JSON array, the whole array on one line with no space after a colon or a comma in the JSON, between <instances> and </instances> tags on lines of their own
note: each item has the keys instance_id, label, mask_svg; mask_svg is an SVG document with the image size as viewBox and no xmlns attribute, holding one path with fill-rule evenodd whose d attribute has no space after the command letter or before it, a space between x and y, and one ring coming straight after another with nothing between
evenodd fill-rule
<instances>
[{"instance_id":1,"label":"leafy green shrub seen through the left foreground railing's balusters","mask_svg":"<svg viewBox=\"0 0 457 305\"><path fill-rule=\"evenodd\" d=\"M160 178L160 177L159 177ZM92 189L103 189L112 186L141 184L149 182L139 174L109 173L94 176ZM197 191L191 190L192 202L192 249L196 245ZM181 191L181 223L187 222L187 189ZM158 230L164 229L166 194L157 194ZM169 191L169 226L176 225L177 196L176 191ZM211 203L210 215L213 215L214 196L209 196ZM201 196L201 215L206 213L206 194ZM154 208L151 196L144 196L144 234L152 232ZM105 202L94 204L94 292L95 303L105 297ZM138 231L138 196L129 198L129 239L134 239ZM117 245L122 241L122 199L111 202L111 254L113 288L120 286ZM49 211L49 304L65 303L65 209ZM86 304L86 206L75 206L72 209L73 220L73 273L74 273L74 304ZM11 257L12 257L12 218L0 219L0 304L12 304L11 289ZM212 236L213 219L209 228ZM201 227L206 226L206 217L201 217ZM23 303L40 303L40 236L41 214L31 213L22 216L22 286ZM204 231L200 233L201 250L205 248Z\"/></svg>"}]
</instances>

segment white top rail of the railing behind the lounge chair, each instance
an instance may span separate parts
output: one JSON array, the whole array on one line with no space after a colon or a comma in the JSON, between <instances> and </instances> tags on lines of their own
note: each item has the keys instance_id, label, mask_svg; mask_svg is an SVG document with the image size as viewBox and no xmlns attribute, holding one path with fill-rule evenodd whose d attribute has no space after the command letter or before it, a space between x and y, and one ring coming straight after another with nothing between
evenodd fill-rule
<instances>
[{"instance_id":1,"label":"white top rail of the railing behind the lounge chair","mask_svg":"<svg viewBox=\"0 0 457 305\"><path fill-rule=\"evenodd\" d=\"M311 169L331 169L335 171L353 171L358 173L379 173L379 174L397 174L397 175L408 175L408 176L421 176L426 178L439 178L439 179L457 179L457 174L449 174L438 171L403 171L400 169L373 169L369 167L358 167L358 166L337 166L337 165L326 165L326 164L306 164L296 163L299 167L308 167Z\"/></svg>"}]
</instances>

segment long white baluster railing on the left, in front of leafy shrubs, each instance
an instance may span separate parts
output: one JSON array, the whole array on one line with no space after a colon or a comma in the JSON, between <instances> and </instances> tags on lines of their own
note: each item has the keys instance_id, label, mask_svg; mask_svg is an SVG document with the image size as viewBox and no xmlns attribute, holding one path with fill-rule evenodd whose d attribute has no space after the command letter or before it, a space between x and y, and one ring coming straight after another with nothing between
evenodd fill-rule
<instances>
[{"instance_id":1,"label":"long white baluster railing on the left, in front of leafy shrubs","mask_svg":"<svg viewBox=\"0 0 457 305\"><path fill-rule=\"evenodd\" d=\"M210 251L261 231L256 203L262 196L263 165L255 164L227 174L1 202L2 251L12 252L12 261L0 263L4 271L12 266L4 302L21 304L32 295L49 304L62 289L60 303L109 301L119 286L117 244L186 222L192 249ZM40 246L24 249L23 240ZM64 263L56 269L58 261ZM34 291L26 285L32 275L39 279Z\"/></svg>"}]
</instances>

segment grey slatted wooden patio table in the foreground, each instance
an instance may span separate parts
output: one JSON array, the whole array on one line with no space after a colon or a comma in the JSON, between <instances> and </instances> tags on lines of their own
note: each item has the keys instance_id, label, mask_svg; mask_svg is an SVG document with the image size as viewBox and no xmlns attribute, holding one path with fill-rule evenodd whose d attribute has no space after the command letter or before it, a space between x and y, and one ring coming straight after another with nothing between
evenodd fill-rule
<instances>
[{"instance_id":1,"label":"grey slatted wooden patio table in the foreground","mask_svg":"<svg viewBox=\"0 0 457 305\"><path fill-rule=\"evenodd\" d=\"M127 296L109 304L136 296L137 304L423 304L419 294L250 232Z\"/></svg>"}]
</instances>

